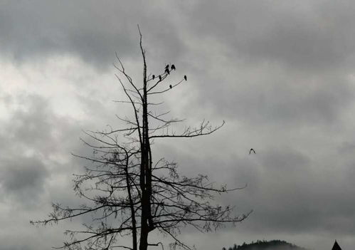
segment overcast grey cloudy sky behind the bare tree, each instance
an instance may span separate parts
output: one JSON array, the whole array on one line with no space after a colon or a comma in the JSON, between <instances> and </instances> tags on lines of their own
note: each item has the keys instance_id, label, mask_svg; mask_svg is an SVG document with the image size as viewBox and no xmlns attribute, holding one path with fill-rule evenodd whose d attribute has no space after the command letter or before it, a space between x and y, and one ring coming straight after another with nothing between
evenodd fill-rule
<instances>
[{"instance_id":1,"label":"overcast grey cloudy sky behind the bare tree","mask_svg":"<svg viewBox=\"0 0 355 250\"><path fill-rule=\"evenodd\" d=\"M0 249L59 246L36 227L51 202L77 204L72 174L90 154L82 130L117 127L115 52L142 78L174 63L188 81L161 96L174 117L226 125L157 141L181 172L230 187L237 227L187 230L199 249L283 239L309 249L355 245L354 1L0 1ZM174 78L171 78L174 79ZM256 155L248 155L250 147Z\"/></svg>"}]
</instances>

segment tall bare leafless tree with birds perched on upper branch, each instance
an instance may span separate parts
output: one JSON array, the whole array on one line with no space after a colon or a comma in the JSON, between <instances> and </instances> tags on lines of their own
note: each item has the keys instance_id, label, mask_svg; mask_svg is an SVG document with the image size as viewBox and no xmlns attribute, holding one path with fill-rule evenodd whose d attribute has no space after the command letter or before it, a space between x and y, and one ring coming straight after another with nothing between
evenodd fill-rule
<instances>
[{"instance_id":1,"label":"tall bare leafless tree with birds perched on upper branch","mask_svg":"<svg viewBox=\"0 0 355 250\"><path fill-rule=\"evenodd\" d=\"M90 140L83 142L92 147L93 154L90 157L75 155L92 162L91 167L85 167L83 175L75 175L73 180L75 192L86 199L87 204L77 208L53 204L53 212L48 219L31 222L56 224L65 219L90 215L91 223L83 224L84 229L65 232L70 240L60 248L147 250L148 246L161 244L148 241L149 233L157 230L171 237L171 247L191 249L178 238L182 227L193 226L198 231L211 231L226 222L241 222L250 214L233 216L232 207L222 207L213 202L216 194L240 188L228 189L226 185L213 187L205 175L184 177L177 172L175 162L164 158L153 160L153 140L209 135L221 128L224 121L216 127L203 121L197 127L186 127L180 133L169 132L171 125L182 120L164 118L168 113L154 113L154 107L161 103L149 103L149 97L174 90L187 78L184 75L169 87L161 84L175 73L174 65L166 65L159 75L147 75L146 51L142 46L140 30L139 35L143 61L142 85L134 83L117 54L118 63L115 65L117 79L127 96L127 100L120 103L132 106L133 118L117 116L127 124L122 129L110 127L110 130L85 132ZM122 236L132 236L132 244L120 244Z\"/></svg>"}]
</instances>

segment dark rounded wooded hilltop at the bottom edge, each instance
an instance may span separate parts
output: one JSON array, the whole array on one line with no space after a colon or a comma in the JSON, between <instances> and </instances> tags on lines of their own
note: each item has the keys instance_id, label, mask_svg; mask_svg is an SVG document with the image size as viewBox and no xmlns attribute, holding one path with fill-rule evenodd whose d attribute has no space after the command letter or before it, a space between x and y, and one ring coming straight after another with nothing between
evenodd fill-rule
<instances>
[{"instance_id":1,"label":"dark rounded wooded hilltop at the bottom edge","mask_svg":"<svg viewBox=\"0 0 355 250\"><path fill-rule=\"evenodd\" d=\"M290 244L286 241L280 241L278 239L272 241L256 241L250 244L245 244L237 246L223 247L223 250L307 250L303 247L296 246L294 244Z\"/></svg>"}]
</instances>

